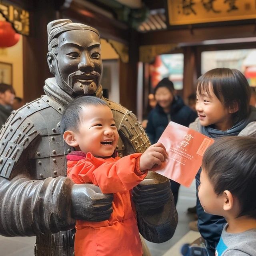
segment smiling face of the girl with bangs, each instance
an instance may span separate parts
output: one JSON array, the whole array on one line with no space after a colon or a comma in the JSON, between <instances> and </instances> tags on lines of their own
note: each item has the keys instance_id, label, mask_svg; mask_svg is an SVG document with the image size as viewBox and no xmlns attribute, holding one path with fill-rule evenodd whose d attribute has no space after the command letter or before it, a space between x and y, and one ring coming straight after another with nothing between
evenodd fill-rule
<instances>
[{"instance_id":1,"label":"smiling face of the girl with bangs","mask_svg":"<svg viewBox=\"0 0 256 256\"><path fill-rule=\"evenodd\" d=\"M196 111L202 126L214 125L214 128L226 131L233 126L232 112L227 110L214 94L209 85L210 95L206 90L196 92Z\"/></svg>"}]
</instances>

